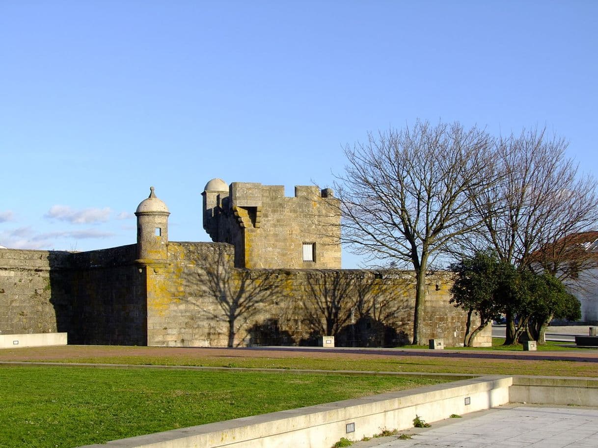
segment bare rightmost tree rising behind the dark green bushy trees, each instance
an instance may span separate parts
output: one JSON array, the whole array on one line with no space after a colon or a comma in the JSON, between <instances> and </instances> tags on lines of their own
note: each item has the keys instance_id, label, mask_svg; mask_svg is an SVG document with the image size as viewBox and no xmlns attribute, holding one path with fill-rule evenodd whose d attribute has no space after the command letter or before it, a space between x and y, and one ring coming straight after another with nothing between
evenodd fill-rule
<instances>
[{"instance_id":1,"label":"bare rightmost tree rising behind the dark green bushy trees","mask_svg":"<svg viewBox=\"0 0 598 448\"><path fill-rule=\"evenodd\" d=\"M472 197L484 217L483 231L470 240L476 248L492 247L520 269L541 266L564 280L567 243L596 225L598 207L596 181L578 175L578 166L566 157L567 146L537 129L499 139L488 174L499 183ZM508 312L505 344L516 342L518 333Z\"/></svg>"}]
</instances>

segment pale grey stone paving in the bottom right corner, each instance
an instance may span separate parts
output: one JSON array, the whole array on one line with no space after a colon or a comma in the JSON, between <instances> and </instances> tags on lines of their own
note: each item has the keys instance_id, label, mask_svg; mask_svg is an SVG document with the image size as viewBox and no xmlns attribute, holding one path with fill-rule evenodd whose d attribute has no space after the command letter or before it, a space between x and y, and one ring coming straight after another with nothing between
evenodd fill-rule
<instances>
[{"instance_id":1,"label":"pale grey stone paving in the bottom right corner","mask_svg":"<svg viewBox=\"0 0 598 448\"><path fill-rule=\"evenodd\" d=\"M596 448L598 408L510 404L401 431L413 438L373 438L353 448Z\"/></svg>"}]
</instances>

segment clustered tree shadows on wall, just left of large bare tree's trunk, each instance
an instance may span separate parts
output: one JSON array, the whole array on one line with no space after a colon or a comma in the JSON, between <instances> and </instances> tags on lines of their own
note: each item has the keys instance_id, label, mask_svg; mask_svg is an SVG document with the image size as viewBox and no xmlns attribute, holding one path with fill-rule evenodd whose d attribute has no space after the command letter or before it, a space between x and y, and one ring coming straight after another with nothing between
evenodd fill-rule
<instances>
[{"instance_id":1,"label":"clustered tree shadows on wall, just left of large bare tree's trunk","mask_svg":"<svg viewBox=\"0 0 598 448\"><path fill-rule=\"evenodd\" d=\"M401 300L405 291L383 281L379 272L315 271L307 281L311 332L300 345L315 345L324 335L334 336L337 346L401 345L408 335L393 324L410 312Z\"/></svg>"}]
</instances>

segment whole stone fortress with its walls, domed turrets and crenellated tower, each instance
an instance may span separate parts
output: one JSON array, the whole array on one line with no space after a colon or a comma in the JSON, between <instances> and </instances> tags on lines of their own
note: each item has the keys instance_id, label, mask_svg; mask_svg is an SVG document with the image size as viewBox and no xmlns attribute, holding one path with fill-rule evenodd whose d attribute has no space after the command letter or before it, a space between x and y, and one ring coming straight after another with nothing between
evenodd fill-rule
<instances>
[{"instance_id":1,"label":"whole stone fortress with its walls, domed turrets and crenellated tower","mask_svg":"<svg viewBox=\"0 0 598 448\"><path fill-rule=\"evenodd\" d=\"M151 188L137 242L86 252L0 248L0 334L68 333L71 344L395 346L410 342L409 272L340 269L330 189L208 182L203 228L213 243L168 238ZM447 274L428 278L425 333L462 343L465 313ZM490 330L477 339L489 345Z\"/></svg>"}]
</instances>

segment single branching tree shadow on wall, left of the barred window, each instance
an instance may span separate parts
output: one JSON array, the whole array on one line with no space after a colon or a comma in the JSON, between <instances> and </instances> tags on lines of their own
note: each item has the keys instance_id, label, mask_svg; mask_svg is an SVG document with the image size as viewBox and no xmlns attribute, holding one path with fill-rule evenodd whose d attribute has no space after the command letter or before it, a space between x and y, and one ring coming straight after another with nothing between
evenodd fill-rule
<instances>
[{"instance_id":1,"label":"single branching tree shadow on wall, left of the barred window","mask_svg":"<svg viewBox=\"0 0 598 448\"><path fill-rule=\"evenodd\" d=\"M218 260L205 268L205 275L209 294L214 297L219 311L208 311L208 314L213 320L227 324L228 347L242 345L237 329L275 302L285 280L279 271L233 268L222 251Z\"/></svg>"}]
</instances>

